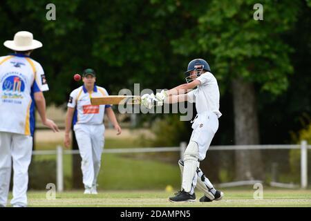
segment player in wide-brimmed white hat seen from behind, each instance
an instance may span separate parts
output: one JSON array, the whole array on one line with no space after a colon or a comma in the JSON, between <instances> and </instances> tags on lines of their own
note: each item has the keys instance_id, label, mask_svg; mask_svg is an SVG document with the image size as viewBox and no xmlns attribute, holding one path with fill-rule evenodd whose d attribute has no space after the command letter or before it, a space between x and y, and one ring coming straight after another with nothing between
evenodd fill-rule
<instances>
[{"instance_id":1,"label":"player in wide-brimmed white hat seen from behind","mask_svg":"<svg viewBox=\"0 0 311 221\"><path fill-rule=\"evenodd\" d=\"M30 53L41 48L30 32L17 32L4 42L15 53L0 57L0 206L6 206L13 166L12 206L27 206L28 166L35 131L35 105L45 126L54 132L56 124L46 118L43 91L48 84L41 65ZM13 165L12 165L13 164Z\"/></svg>"}]
</instances>

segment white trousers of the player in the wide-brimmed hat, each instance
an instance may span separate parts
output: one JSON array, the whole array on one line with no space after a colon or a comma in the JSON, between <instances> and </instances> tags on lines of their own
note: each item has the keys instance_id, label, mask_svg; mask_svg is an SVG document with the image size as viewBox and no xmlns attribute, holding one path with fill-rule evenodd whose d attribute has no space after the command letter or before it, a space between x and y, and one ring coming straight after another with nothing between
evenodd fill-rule
<instances>
[{"instance_id":1,"label":"white trousers of the player in the wide-brimmed hat","mask_svg":"<svg viewBox=\"0 0 311 221\"><path fill-rule=\"evenodd\" d=\"M11 204L27 206L28 166L32 137L0 132L0 204L6 206L13 163L13 198Z\"/></svg>"}]
</instances>

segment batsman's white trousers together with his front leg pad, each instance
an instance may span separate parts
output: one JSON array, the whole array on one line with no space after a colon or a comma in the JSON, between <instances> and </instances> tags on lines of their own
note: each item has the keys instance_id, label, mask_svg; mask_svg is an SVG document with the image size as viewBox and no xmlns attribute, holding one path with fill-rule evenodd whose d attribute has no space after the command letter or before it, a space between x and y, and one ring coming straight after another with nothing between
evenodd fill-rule
<instances>
[{"instance_id":1,"label":"batsman's white trousers together with his front leg pad","mask_svg":"<svg viewBox=\"0 0 311 221\"><path fill-rule=\"evenodd\" d=\"M184 154L182 173L182 189L191 194L196 187L199 161L205 159L211 140L218 130L218 117L212 112L200 113L194 119L192 128L194 131Z\"/></svg>"}]
</instances>

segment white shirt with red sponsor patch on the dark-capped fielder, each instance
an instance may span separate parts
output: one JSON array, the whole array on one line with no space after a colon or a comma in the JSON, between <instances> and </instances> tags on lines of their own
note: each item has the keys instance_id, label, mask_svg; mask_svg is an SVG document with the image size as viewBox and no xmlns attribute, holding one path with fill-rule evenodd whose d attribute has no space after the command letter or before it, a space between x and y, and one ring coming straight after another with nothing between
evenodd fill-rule
<instances>
[{"instance_id":1,"label":"white shirt with red sponsor patch on the dark-capped fielder","mask_svg":"<svg viewBox=\"0 0 311 221\"><path fill-rule=\"evenodd\" d=\"M73 90L70 93L67 106L75 108L73 125L75 124L103 124L105 108L111 105L91 105L91 97L108 96L107 90L100 86L94 86L93 92L88 93L84 86Z\"/></svg>"}]
</instances>

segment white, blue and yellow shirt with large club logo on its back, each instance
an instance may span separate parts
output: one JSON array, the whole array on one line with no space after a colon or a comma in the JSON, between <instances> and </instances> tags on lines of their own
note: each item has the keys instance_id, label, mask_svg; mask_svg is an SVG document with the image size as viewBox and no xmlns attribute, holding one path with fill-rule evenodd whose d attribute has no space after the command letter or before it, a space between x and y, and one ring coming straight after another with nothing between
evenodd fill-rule
<instances>
[{"instance_id":1,"label":"white, blue and yellow shirt with large club logo on its back","mask_svg":"<svg viewBox=\"0 0 311 221\"><path fill-rule=\"evenodd\" d=\"M0 57L0 131L33 135L34 93L48 90L42 66L27 55Z\"/></svg>"}]
</instances>

